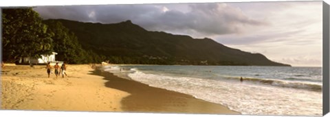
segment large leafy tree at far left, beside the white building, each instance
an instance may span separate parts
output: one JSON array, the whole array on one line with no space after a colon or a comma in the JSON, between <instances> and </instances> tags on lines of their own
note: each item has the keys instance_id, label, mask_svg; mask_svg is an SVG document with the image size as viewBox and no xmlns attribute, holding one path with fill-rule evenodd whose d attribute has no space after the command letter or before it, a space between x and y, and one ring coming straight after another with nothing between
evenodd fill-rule
<instances>
[{"instance_id":1,"label":"large leafy tree at far left, beside the white building","mask_svg":"<svg viewBox=\"0 0 330 117\"><path fill-rule=\"evenodd\" d=\"M52 53L51 37L54 34L32 8L3 9L2 13L4 61Z\"/></svg>"}]
</instances>

